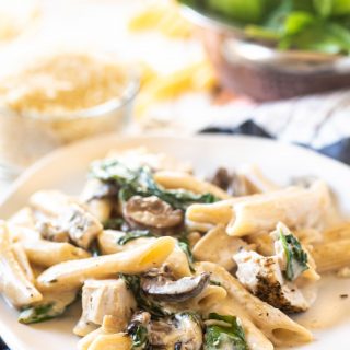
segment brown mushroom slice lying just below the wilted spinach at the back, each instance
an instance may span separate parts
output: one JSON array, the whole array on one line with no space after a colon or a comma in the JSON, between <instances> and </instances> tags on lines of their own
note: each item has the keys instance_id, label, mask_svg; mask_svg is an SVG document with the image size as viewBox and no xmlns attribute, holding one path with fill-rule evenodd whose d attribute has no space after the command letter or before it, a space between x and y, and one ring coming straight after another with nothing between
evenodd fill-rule
<instances>
[{"instance_id":1,"label":"brown mushroom slice lying just below the wilted spinach at the back","mask_svg":"<svg viewBox=\"0 0 350 350\"><path fill-rule=\"evenodd\" d=\"M156 229L175 228L184 220L182 210L173 209L156 196L131 197L124 207L124 215L131 224Z\"/></svg>"}]
</instances>

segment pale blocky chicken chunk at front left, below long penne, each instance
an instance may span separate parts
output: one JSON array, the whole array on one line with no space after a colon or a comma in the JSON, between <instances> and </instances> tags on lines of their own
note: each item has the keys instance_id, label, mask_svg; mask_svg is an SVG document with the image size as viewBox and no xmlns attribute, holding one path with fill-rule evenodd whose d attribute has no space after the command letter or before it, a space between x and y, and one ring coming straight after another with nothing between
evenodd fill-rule
<instances>
[{"instance_id":1,"label":"pale blocky chicken chunk at front left, below long penne","mask_svg":"<svg viewBox=\"0 0 350 350\"><path fill-rule=\"evenodd\" d=\"M136 310L136 301L124 280L88 280L82 294L83 313L74 334L85 336L113 316L122 330Z\"/></svg>"}]
</instances>

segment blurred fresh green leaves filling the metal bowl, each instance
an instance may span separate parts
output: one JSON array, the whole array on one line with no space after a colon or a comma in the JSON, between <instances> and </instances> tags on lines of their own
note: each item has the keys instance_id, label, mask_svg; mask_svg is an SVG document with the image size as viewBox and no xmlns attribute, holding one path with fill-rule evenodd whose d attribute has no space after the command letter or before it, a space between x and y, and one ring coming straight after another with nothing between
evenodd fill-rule
<instances>
[{"instance_id":1,"label":"blurred fresh green leaves filling the metal bowl","mask_svg":"<svg viewBox=\"0 0 350 350\"><path fill-rule=\"evenodd\" d=\"M349 0L180 0L280 49L350 52Z\"/></svg>"}]
</instances>

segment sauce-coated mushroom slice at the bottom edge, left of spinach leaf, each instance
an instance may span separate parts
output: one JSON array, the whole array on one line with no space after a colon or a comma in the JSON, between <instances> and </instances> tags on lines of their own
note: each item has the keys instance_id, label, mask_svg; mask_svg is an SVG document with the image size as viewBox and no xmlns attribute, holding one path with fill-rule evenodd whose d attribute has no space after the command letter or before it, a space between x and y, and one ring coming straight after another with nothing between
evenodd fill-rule
<instances>
[{"instance_id":1,"label":"sauce-coated mushroom slice at the bottom edge, left of spinach leaf","mask_svg":"<svg viewBox=\"0 0 350 350\"><path fill-rule=\"evenodd\" d=\"M199 350L202 348L202 327L196 315L175 314L150 323L149 341L153 349Z\"/></svg>"}]
</instances>

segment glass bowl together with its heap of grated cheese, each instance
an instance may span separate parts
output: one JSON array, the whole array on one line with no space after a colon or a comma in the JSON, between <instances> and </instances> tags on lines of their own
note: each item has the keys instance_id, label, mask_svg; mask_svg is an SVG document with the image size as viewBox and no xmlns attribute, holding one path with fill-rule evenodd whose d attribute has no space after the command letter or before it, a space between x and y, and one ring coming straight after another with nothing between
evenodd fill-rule
<instances>
[{"instance_id":1,"label":"glass bowl together with its heap of grated cheese","mask_svg":"<svg viewBox=\"0 0 350 350\"><path fill-rule=\"evenodd\" d=\"M0 80L0 165L18 174L55 148L120 130L137 91L137 77L110 57L37 59Z\"/></svg>"}]
</instances>

